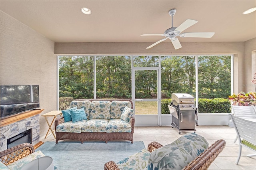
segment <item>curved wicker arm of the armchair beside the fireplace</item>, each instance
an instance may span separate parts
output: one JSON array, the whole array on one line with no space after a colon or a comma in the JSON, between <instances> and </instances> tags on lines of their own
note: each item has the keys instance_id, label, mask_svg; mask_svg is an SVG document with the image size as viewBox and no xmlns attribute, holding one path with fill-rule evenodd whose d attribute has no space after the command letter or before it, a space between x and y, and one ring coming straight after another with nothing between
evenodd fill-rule
<instances>
[{"instance_id":1,"label":"curved wicker arm of the armchair beside the fireplace","mask_svg":"<svg viewBox=\"0 0 256 170\"><path fill-rule=\"evenodd\" d=\"M0 152L0 161L5 165L9 165L21 158L24 158L25 156L28 156L29 154L32 154L33 152L35 152L35 150L32 144L19 144Z\"/></svg>"}]
</instances>

